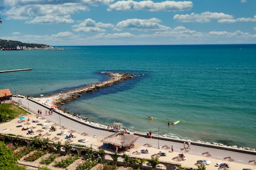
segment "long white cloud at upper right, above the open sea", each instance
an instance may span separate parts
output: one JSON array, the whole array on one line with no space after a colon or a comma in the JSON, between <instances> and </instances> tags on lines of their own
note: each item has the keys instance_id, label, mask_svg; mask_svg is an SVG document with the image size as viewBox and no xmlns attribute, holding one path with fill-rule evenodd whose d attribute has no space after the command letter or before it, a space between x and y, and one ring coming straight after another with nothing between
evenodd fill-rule
<instances>
[{"instance_id":1,"label":"long white cloud at upper right, above the open sea","mask_svg":"<svg viewBox=\"0 0 256 170\"><path fill-rule=\"evenodd\" d=\"M203 12L201 14L195 14L194 12L191 14L180 15L176 14L174 19L181 22L209 22L211 19L231 19L232 15L218 13L218 12Z\"/></svg>"}]
</instances>

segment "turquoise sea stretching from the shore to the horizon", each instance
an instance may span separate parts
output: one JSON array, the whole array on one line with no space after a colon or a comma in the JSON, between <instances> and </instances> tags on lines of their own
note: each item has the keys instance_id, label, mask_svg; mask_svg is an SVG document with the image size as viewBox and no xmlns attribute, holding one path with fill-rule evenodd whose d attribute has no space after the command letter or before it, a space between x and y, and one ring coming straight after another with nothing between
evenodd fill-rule
<instances>
[{"instance_id":1,"label":"turquoise sea stretching from the shore to the horizon","mask_svg":"<svg viewBox=\"0 0 256 170\"><path fill-rule=\"evenodd\" d=\"M48 96L107 80L100 71L131 72L62 108L134 132L256 148L256 44L60 47L0 51L0 70L32 68L1 73L0 89Z\"/></svg>"}]
</instances>

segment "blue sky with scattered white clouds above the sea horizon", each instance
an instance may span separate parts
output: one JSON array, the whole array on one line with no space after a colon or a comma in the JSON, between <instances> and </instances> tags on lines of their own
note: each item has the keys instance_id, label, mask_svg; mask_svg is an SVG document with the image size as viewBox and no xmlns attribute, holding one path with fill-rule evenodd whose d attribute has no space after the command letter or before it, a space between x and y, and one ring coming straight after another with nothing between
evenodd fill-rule
<instances>
[{"instance_id":1,"label":"blue sky with scattered white clouds above the sea horizon","mask_svg":"<svg viewBox=\"0 0 256 170\"><path fill-rule=\"evenodd\" d=\"M0 39L60 45L256 43L256 0L0 0Z\"/></svg>"}]
</instances>

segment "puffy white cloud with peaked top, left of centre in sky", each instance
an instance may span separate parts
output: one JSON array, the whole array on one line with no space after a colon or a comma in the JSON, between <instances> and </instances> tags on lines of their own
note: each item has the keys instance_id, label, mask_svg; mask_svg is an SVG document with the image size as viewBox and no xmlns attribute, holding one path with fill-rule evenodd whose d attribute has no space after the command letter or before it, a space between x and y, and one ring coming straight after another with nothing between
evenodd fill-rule
<instances>
[{"instance_id":1,"label":"puffy white cloud with peaked top, left of centre in sky","mask_svg":"<svg viewBox=\"0 0 256 170\"><path fill-rule=\"evenodd\" d=\"M72 26L76 32L105 32L106 30L101 28L114 28L111 23L96 22L95 20L88 18L84 19L78 25Z\"/></svg>"}]
</instances>

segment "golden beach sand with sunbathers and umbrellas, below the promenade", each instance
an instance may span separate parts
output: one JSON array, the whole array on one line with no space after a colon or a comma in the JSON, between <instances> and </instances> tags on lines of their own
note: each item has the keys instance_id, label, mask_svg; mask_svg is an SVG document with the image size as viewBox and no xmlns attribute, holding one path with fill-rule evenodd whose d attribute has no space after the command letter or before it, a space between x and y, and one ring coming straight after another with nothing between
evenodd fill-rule
<instances>
[{"instance_id":1,"label":"golden beach sand with sunbathers and umbrellas, below the promenade","mask_svg":"<svg viewBox=\"0 0 256 170\"><path fill-rule=\"evenodd\" d=\"M14 135L20 135L20 136L24 136L24 137L35 137L39 135L39 132L36 132L38 130L42 130L42 132L40 132L42 134L42 136L40 138L49 138L50 140L54 139L54 138L59 138L57 140L54 140L54 142L60 141L61 143L65 143L65 142L70 142L70 143L76 143L76 144L83 144L83 145L87 145L88 147L93 147L93 149L97 149L98 146L101 146L103 143L101 142L101 140L103 139L101 136L97 136L96 138L94 138L91 135L82 135L81 133L78 132L73 132L72 134L74 136L76 136L75 138L72 138L70 140L65 139L66 135L58 135L61 131L65 131L67 134L69 134L71 132L71 129L61 129L62 127L59 127L58 125L56 125L53 122L49 122L51 119L51 116L46 116L46 118L41 118L38 117L36 118L37 115L36 114L28 114L25 116L25 122L23 123L18 123L19 118L15 118L13 120L11 120L10 122L6 122L6 123L2 123L0 124L0 129L1 129L1 133L3 134L14 134ZM27 121L28 118L30 119L30 121ZM38 123L32 123L32 120L38 120ZM55 132L50 132L50 129L43 129L43 127L45 126L41 126L40 124L42 123L46 123L48 124L48 126L52 126L54 125L57 128L57 131ZM26 125L29 124L29 125ZM26 131L22 131L22 128L31 128L31 127L35 127L33 129L33 131L35 132L32 135L28 135L27 134L27 130ZM4 130L7 129L7 130ZM4 131L3 131L4 130ZM75 131L75 130L73 130ZM104 133L104 131L102 131ZM47 135L49 134L49 136ZM89 139L89 141L82 143L82 142L78 142L78 140L80 139ZM142 149L148 149L149 154L140 154L140 155L133 155L132 153L135 151L140 152L140 150ZM174 164L181 164L182 167L192 167L192 168L196 168L197 167L197 161L199 160L203 160L206 159L206 157L203 156L198 156L198 155L193 155L191 153L184 153L184 155L186 156L186 160L185 161L174 161L173 158L176 157L179 153L181 152L169 152L170 150L163 150L163 149L157 149L157 148L146 148L143 147L142 143L138 143L135 142L135 147L132 148L129 152L126 151L124 152L127 155L133 156L133 157L138 157L138 158L144 158L144 159L151 159L151 155L153 154L157 154L159 153L159 151L161 152L166 152L166 156L161 156L159 158L160 161L163 162L170 162L170 163L174 163ZM108 151L106 151L108 152ZM113 153L113 152L111 152ZM238 162L228 162L228 161L224 161L224 160L220 160L220 159L214 159L214 158L207 158L207 160L210 160L211 163L210 165L206 165L207 169L209 170L216 170L218 169L218 167L214 166L216 163L218 162L222 162L222 163L228 163L230 166L230 169L243 169L243 168L250 168L253 169L252 165L248 165L248 164L243 164L243 163L238 163Z\"/></svg>"}]
</instances>

